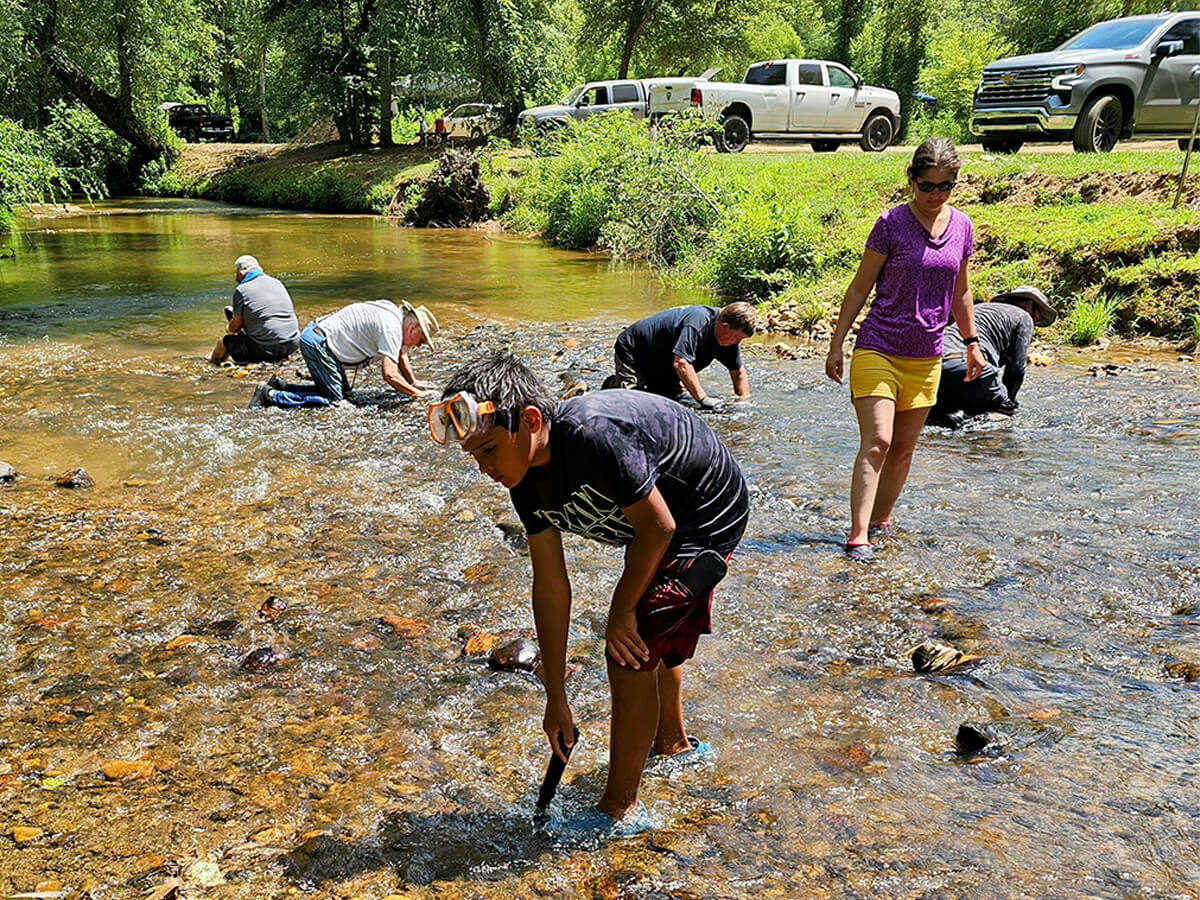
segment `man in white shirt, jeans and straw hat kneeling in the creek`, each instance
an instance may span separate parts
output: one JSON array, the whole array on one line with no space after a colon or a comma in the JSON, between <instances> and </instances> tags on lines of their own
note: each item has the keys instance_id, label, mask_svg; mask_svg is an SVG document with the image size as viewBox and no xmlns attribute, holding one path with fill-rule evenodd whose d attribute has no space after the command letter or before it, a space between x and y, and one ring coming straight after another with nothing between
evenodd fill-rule
<instances>
[{"instance_id":1,"label":"man in white shirt, jeans and straw hat kneeling in the creek","mask_svg":"<svg viewBox=\"0 0 1200 900\"><path fill-rule=\"evenodd\" d=\"M346 370L379 361L383 379L397 392L419 400L437 396L437 385L413 372L408 350L433 347L438 320L424 306L401 300L350 304L308 323L300 335L300 355L313 384L259 384L251 407L326 407L350 397Z\"/></svg>"}]
</instances>

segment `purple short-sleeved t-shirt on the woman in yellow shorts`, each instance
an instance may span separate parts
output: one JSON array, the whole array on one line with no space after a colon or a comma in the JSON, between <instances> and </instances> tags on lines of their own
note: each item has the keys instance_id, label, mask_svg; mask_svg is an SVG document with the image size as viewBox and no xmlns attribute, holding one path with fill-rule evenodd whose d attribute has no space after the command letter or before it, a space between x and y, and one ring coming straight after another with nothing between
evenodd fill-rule
<instances>
[{"instance_id":1,"label":"purple short-sleeved t-shirt on the woman in yellow shorts","mask_svg":"<svg viewBox=\"0 0 1200 900\"><path fill-rule=\"evenodd\" d=\"M866 246L888 259L875 282L875 301L858 330L856 349L912 359L941 356L954 281L974 248L971 220L950 208L950 221L935 240L906 203L880 216Z\"/></svg>"}]
</instances>

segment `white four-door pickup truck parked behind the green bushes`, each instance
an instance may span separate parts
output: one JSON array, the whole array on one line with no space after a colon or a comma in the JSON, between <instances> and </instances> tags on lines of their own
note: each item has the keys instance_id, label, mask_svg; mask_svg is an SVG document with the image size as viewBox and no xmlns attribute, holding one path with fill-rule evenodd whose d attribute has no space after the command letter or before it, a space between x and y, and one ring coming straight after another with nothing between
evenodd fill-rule
<instances>
[{"instance_id":1,"label":"white four-door pickup truck parked behind the green bushes","mask_svg":"<svg viewBox=\"0 0 1200 900\"><path fill-rule=\"evenodd\" d=\"M706 73L707 74L707 73ZM672 88L682 86L673 79ZM848 68L826 60L755 62L742 84L689 83L690 102L716 116L716 149L738 152L750 139L809 140L817 152L857 140L863 150L887 148L900 127L900 97L871 88ZM654 112L652 95L650 109Z\"/></svg>"}]
</instances>

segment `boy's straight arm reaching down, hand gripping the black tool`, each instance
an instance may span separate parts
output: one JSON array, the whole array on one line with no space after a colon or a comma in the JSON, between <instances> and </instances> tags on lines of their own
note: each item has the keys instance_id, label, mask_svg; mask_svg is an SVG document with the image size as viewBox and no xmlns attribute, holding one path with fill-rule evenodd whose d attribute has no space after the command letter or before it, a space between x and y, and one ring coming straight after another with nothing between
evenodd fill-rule
<instances>
[{"instance_id":1,"label":"boy's straight arm reaching down, hand gripping the black tool","mask_svg":"<svg viewBox=\"0 0 1200 900\"><path fill-rule=\"evenodd\" d=\"M533 622L541 650L541 682L546 686L546 713L541 720L550 749L563 762L566 757L558 736L571 746L575 720L566 702L566 629L571 619L571 580L563 558L563 538L554 528L529 535L533 564Z\"/></svg>"}]
</instances>

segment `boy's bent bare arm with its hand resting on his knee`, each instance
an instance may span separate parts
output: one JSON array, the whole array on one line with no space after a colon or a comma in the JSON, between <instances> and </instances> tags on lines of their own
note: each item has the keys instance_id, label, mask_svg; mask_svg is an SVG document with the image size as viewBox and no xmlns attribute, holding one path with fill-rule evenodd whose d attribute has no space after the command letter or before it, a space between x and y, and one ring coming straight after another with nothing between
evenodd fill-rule
<instances>
[{"instance_id":1,"label":"boy's bent bare arm with its hand resting on his knee","mask_svg":"<svg viewBox=\"0 0 1200 900\"><path fill-rule=\"evenodd\" d=\"M617 588L612 592L605 641L608 655L614 661L636 667L649 658L649 652L637 634L637 601L649 587L662 562L662 554L671 544L674 516L656 487L650 488L643 499L622 509L622 512L634 526L634 540L625 552L625 571L620 574Z\"/></svg>"}]
</instances>

